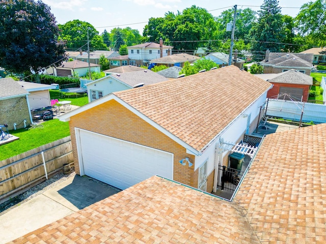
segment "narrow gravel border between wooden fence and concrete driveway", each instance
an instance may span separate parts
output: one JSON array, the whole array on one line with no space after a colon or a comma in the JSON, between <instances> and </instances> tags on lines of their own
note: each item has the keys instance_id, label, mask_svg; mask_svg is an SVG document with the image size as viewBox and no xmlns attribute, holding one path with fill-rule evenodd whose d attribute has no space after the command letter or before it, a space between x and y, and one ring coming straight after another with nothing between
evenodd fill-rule
<instances>
[{"instance_id":1,"label":"narrow gravel border between wooden fence and concrete driveway","mask_svg":"<svg viewBox=\"0 0 326 244\"><path fill-rule=\"evenodd\" d=\"M12 199L0 204L0 216L5 214L5 212L11 210L12 208L19 206L21 203L31 200L32 198L42 194L43 192L49 190L52 187L57 186L61 182L69 179L70 177L74 177L75 175L76 173L74 172L74 168L72 167L70 174L63 174L63 172L60 172L59 174L56 174L53 177L32 187L28 191L21 193L18 196L13 197Z\"/></svg>"}]
</instances>

